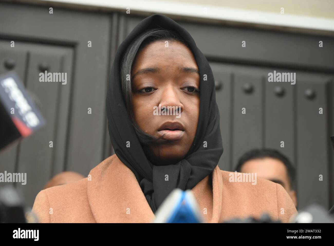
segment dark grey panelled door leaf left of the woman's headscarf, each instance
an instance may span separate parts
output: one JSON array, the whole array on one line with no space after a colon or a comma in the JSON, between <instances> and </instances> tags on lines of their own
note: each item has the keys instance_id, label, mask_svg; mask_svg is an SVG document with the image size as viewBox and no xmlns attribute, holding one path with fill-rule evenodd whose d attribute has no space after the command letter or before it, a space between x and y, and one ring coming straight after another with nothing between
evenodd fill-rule
<instances>
[{"instance_id":1,"label":"dark grey panelled door leaf left of the woman's headscarf","mask_svg":"<svg viewBox=\"0 0 334 246\"><path fill-rule=\"evenodd\" d=\"M49 14L47 6L0 3L0 73L18 73L47 122L0 154L0 172L27 173L27 184L15 185L30 206L54 174L70 170L87 176L104 159L113 19L107 14L60 8ZM15 66L8 68L8 61ZM67 73L67 84L39 82L44 69Z\"/></svg>"}]
</instances>

